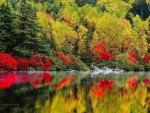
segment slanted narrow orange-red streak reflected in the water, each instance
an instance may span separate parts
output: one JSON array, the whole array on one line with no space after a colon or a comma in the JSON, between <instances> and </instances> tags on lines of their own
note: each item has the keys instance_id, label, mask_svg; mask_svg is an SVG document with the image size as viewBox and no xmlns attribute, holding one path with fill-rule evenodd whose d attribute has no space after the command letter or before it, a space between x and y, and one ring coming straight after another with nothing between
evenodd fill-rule
<instances>
[{"instance_id":1,"label":"slanted narrow orange-red streak reflected in the water","mask_svg":"<svg viewBox=\"0 0 150 113\"><path fill-rule=\"evenodd\" d=\"M74 79L73 76L69 76L61 80L58 84L55 85L54 89L60 89L62 87L68 86L73 79Z\"/></svg>"}]
</instances>

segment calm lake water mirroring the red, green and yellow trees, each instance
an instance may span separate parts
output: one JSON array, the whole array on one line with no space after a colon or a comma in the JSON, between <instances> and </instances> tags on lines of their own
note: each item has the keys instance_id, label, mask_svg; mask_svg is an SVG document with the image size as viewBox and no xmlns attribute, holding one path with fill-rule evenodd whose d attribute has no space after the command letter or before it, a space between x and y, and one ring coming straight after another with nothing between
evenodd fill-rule
<instances>
[{"instance_id":1,"label":"calm lake water mirroring the red, green and yellow trees","mask_svg":"<svg viewBox=\"0 0 150 113\"><path fill-rule=\"evenodd\" d=\"M0 73L0 113L150 113L150 73Z\"/></svg>"}]
</instances>

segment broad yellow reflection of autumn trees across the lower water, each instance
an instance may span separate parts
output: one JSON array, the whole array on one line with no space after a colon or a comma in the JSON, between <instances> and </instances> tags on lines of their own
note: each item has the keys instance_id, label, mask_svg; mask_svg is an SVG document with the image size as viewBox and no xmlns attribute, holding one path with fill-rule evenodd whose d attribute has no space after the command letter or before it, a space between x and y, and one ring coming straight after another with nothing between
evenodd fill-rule
<instances>
[{"instance_id":1,"label":"broad yellow reflection of autumn trees across the lower water","mask_svg":"<svg viewBox=\"0 0 150 113\"><path fill-rule=\"evenodd\" d=\"M95 85L97 83L92 86ZM57 90L55 95L45 101L44 105L40 105L37 101L35 107L40 111L39 113L73 113L75 111L83 113L89 112L87 111L89 104L87 101L91 99L90 106L92 106L93 113L147 113L148 106L145 99L148 96L148 91L143 84L138 84L135 88L129 86L119 88L118 85L114 85L104 92L102 98L93 94L92 86L77 85L76 97L74 88ZM90 88L89 92L85 91L87 88Z\"/></svg>"}]
</instances>

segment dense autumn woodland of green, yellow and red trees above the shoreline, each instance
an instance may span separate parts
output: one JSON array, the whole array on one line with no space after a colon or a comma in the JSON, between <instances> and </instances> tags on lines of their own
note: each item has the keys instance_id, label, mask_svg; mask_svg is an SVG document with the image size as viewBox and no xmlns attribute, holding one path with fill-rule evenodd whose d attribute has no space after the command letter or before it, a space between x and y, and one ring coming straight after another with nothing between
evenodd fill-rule
<instances>
[{"instance_id":1,"label":"dense autumn woodland of green, yellow and red trees above the shoreline","mask_svg":"<svg viewBox=\"0 0 150 113\"><path fill-rule=\"evenodd\" d=\"M150 0L0 0L0 57L47 58L48 70L150 70L149 15Z\"/></svg>"}]
</instances>

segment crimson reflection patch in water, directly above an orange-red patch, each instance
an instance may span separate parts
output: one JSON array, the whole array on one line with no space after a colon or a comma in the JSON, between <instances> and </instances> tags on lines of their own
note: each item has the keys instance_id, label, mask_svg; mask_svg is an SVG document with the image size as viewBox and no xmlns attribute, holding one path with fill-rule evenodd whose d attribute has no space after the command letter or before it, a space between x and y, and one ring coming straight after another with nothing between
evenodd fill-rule
<instances>
[{"instance_id":1,"label":"crimson reflection patch in water, directly above an orange-red patch","mask_svg":"<svg viewBox=\"0 0 150 113\"><path fill-rule=\"evenodd\" d=\"M102 87L103 90L109 89L113 84L114 84L114 80L100 80L99 81L99 85Z\"/></svg>"}]
</instances>

